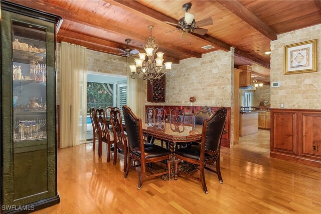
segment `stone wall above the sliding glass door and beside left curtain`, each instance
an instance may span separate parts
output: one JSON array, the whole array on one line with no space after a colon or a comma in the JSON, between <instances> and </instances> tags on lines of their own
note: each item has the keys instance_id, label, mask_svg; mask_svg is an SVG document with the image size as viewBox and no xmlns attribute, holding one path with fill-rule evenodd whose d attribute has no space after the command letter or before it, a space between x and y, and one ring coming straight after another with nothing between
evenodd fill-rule
<instances>
[{"instance_id":1,"label":"stone wall above the sliding glass door and beside left curtain","mask_svg":"<svg viewBox=\"0 0 321 214\"><path fill-rule=\"evenodd\" d=\"M60 43L57 43L57 104L59 104L59 61ZM127 76L125 57L102 53L87 49L87 70L101 73Z\"/></svg>"}]
</instances>

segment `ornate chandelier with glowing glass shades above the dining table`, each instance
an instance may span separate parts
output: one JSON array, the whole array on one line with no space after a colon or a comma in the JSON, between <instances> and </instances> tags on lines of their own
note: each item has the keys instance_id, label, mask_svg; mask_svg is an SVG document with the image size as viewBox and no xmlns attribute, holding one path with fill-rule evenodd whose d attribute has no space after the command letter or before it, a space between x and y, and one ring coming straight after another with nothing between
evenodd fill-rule
<instances>
[{"instance_id":1,"label":"ornate chandelier with glowing glass shades above the dining table","mask_svg":"<svg viewBox=\"0 0 321 214\"><path fill-rule=\"evenodd\" d=\"M139 53L139 58L135 59L136 64L129 65L130 71L132 72L131 78L135 78L136 75L143 79L149 79L150 83L155 79L161 78L163 75L168 73L172 68L172 62L165 62L165 71L163 70L163 52L157 52L158 45L155 37L152 36L151 30L154 26L148 26L149 37L145 39L144 49L146 53ZM155 54L157 58L155 58ZM145 58L147 56L147 61ZM171 76L171 73L168 73Z\"/></svg>"}]
</instances>

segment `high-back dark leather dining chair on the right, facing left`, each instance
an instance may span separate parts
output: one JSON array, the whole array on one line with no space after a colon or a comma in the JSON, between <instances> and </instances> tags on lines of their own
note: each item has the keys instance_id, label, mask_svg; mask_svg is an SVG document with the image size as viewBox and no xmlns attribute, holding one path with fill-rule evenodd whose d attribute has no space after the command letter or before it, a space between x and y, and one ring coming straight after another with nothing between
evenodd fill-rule
<instances>
[{"instance_id":1,"label":"high-back dark leather dining chair on the right, facing left","mask_svg":"<svg viewBox=\"0 0 321 214\"><path fill-rule=\"evenodd\" d=\"M220 169L220 151L221 139L226 122L227 110L223 107L215 111L215 114L204 120L202 129L201 144L189 144L175 151L175 175L174 179L178 179L179 160L183 160L192 164L199 165L199 168L191 172L180 172L191 178L201 181L203 191L207 194L208 190L205 182L204 169L217 173L220 183L223 183ZM216 171L207 167L207 164L214 165L216 163ZM200 171L200 178L192 174L197 170Z\"/></svg>"}]
</instances>

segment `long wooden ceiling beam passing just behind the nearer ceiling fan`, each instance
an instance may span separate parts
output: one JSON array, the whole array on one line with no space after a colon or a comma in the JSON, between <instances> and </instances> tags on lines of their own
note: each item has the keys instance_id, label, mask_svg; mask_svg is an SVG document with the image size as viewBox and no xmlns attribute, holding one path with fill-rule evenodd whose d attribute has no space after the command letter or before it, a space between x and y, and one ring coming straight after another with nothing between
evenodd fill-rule
<instances>
[{"instance_id":1,"label":"long wooden ceiling beam passing just behind the nearer ceiling fan","mask_svg":"<svg viewBox=\"0 0 321 214\"><path fill-rule=\"evenodd\" d=\"M162 14L158 11L155 11L151 8L148 8L148 7L140 4L139 2L120 1L120 0L113 0L113 1L104 0L104 1L116 6L118 8L124 9L132 14L135 14L139 17L142 17L147 20L151 20L152 22L154 22L158 25L164 26L164 27L172 29L172 30L177 29L175 26L165 23L165 21L172 22L172 23L178 23L178 20L173 19L172 17L169 17L169 16ZM224 50L224 51L230 51L230 49L231 49L230 45L228 45L228 44L226 44L226 43L224 43L224 42L222 42L222 41L220 41L220 40L218 40L208 34L201 36L198 34L191 33L191 36L195 39L208 42L208 43L214 45L215 47L217 47L221 50Z\"/></svg>"}]
</instances>

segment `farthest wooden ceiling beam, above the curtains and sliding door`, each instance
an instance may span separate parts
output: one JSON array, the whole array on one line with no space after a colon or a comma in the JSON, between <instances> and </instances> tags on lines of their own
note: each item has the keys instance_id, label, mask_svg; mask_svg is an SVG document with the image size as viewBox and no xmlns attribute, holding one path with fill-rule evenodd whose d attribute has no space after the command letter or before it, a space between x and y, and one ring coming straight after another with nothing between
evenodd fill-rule
<instances>
[{"instance_id":1,"label":"farthest wooden ceiling beam, above the curtains and sliding door","mask_svg":"<svg viewBox=\"0 0 321 214\"><path fill-rule=\"evenodd\" d=\"M59 41L69 41L69 42L76 41L78 42L77 45L82 44L88 49L101 51L101 52L105 52L105 53L109 53L117 56L122 54L117 48L120 48L120 49L124 48L124 45L122 44L106 41L106 40L95 38L92 36L78 34L76 32L66 31L63 29L59 30L57 37ZM96 48L92 48L93 46L95 46ZM139 52L143 51L142 49L137 47L133 47L133 46L130 46L130 47L137 49ZM168 57L168 56L164 56L164 60L168 62L173 62L173 64L180 63L179 59Z\"/></svg>"}]
</instances>

